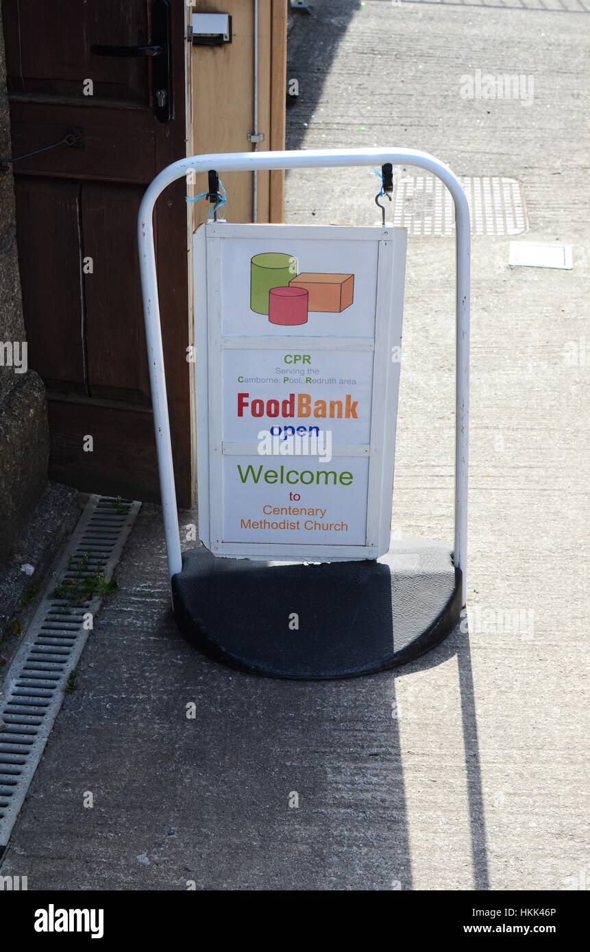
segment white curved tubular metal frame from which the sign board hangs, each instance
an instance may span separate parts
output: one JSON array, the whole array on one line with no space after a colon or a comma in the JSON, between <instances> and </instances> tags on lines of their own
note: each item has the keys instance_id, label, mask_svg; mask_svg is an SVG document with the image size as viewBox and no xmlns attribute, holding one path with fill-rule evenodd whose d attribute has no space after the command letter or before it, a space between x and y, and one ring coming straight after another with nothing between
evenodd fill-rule
<instances>
[{"instance_id":1,"label":"white curved tubular metal frame from which the sign board hangs","mask_svg":"<svg viewBox=\"0 0 590 952\"><path fill-rule=\"evenodd\" d=\"M458 178L451 169L426 152L412 149L310 149L284 152L220 152L193 155L163 169L147 188L139 207L137 238L143 294L148 366L152 388L153 426L158 458L160 494L168 570L172 578L182 569L178 512L174 488L174 470L170 420L166 396L166 377L162 350L162 330L158 304L153 208L162 191L179 178L195 172L254 172L263 169L324 169L349 166L414 166L437 176L453 196L456 213L457 256L457 367L455 424L455 565L463 578L463 605L467 577L467 474L469 445L469 298L470 298L470 226L469 206Z\"/></svg>"}]
</instances>

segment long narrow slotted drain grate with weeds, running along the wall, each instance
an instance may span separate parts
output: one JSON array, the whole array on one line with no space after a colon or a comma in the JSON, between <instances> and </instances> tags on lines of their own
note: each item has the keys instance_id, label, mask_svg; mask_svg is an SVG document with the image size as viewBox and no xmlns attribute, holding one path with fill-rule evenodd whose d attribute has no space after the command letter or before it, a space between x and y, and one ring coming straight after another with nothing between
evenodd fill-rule
<instances>
[{"instance_id":1,"label":"long narrow slotted drain grate with weeds, running along the wall","mask_svg":"<svg viewBox=\"0 0 590 952\"><path fill-rule=\"evenodd\" d=\"M10 664L4 691L7 700L1 708L5 726L0 731L0 853L9 841L64 689L88 639L85 619L89 613L95 616L102 602L102 594L82 601L83 588L76 584L83 586L84 579L98 577L104 587L112 579L140 506L127 499L91 496ZM69 585L76 585L76 596L68 591ZM56 597L56 590L64 597ZM80 590L81 598L74 601Z\"/></svg>"}]
</instances>

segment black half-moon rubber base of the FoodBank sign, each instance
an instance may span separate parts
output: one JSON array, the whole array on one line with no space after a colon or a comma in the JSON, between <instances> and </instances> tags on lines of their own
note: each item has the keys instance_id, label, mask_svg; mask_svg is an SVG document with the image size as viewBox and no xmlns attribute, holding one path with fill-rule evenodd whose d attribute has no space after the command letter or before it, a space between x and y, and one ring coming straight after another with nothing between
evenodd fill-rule
<instances>
[{"instance_id":1,"label":"black half-moon rubber base of the FoodBank sign","mask_svg":"<svg viewBox=\"0 0 590 952\"><path fill-rule=\"evenodd\" d=\"M196 548L172 587L176 622L196 647L269 678L354 678L405 664L442 641L461 609L451 550L426 539L397 540L376 561L321 565Z\"/></svg>"}]
</instances>

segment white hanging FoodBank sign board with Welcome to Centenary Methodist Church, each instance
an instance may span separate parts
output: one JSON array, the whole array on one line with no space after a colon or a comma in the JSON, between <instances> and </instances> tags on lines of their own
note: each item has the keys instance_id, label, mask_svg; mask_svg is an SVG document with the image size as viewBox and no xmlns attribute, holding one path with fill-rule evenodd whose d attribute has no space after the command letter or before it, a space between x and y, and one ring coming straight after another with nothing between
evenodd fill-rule
<instances>
[{"instance_id":1,"label":"white hanging FoodBank sign board with Welcome to Centenary Methodist Church","mask_svg":"<svg viewBox=\"0 0 590 952\"><path fill-rule=\"evenodd\" d=\"M196 231L199 537L215 555L388 551L405 235Z\"/></svg>"}]
</instances>

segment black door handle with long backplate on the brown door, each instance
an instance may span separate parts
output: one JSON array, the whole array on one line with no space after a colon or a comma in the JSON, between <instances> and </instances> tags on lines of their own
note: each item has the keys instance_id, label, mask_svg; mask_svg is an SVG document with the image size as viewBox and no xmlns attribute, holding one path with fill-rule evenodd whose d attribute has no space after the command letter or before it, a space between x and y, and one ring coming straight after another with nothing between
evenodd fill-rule
<instances>
[{"instance_id":1,"label":"black door handle with long backplate on the brown door","mask_svg":"<svg viewBox=\"0 0 590 952\"><path fill-rule=\"evenodd\" d=\"M118 47L94 43L95 56L133 56L153 58L153 114L158 122L173 117L173 63L170 0L153 0L152 43L144 47Z\"/></svg>"}]
</instances>

